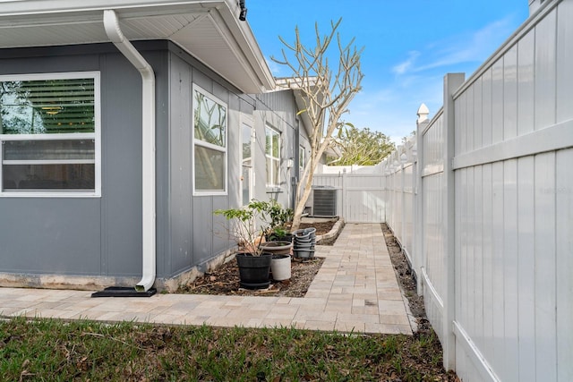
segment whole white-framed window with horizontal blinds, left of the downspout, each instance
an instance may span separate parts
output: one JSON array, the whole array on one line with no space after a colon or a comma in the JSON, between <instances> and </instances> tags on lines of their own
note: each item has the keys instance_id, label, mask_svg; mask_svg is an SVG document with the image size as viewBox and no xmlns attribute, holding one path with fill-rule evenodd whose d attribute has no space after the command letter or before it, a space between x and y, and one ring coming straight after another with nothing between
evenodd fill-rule
<instances>
[{"instance_id":1,"label":"whole white-framed window with horizontal blinds, left of the downspout","mask_svg":"<svg viewBox=\"0 0 573 382\"><path fill-rule=\"evenodd\" d=\"M99 73L0 76L0 195L100 195Z\"/></svg>"}]
</instances>

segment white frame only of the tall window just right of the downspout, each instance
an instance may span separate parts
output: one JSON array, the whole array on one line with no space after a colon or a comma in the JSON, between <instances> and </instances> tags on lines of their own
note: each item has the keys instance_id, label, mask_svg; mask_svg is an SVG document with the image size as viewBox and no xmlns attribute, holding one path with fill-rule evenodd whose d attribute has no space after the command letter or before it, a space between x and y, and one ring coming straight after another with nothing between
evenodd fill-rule
<instances>
[{"instance_id":1,"label":"white frame only of the tall window just right of the downspout","mask_svg":"<svg viewBox=\"0 0 573 382\"><path fill-rule=\"evenodd\" d=\"M195 91L200 92L205 97L212 99L213 101L217 102L225 106L226 109L226 117L225 117L225 147L221 148L218 145L214 145L209 142L205 142L203 140L195 140ZM228 192L228 168L229 168L229 156L228 156L228 125L229 125L229 107L227 102L224 102L222 99L212 95L209 91L201 88L201 86L193 83L191 89L191 134L192 134L192 149L191 149L191 159L192 159L192 196L225 196ZM195 145L201 146L206 149L213 149L225 154L225 177L223 181L225 183L223 190L209 190L209 191L197 191L195 186Z\"/></svg>"}]
</instances>

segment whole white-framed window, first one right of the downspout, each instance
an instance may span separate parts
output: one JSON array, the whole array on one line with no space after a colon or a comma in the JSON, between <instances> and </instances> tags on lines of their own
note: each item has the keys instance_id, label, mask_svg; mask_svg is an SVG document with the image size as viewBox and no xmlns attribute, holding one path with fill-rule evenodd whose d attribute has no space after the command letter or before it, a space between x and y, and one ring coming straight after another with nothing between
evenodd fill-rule
<instances>
[{"instance_id":1,"label":"whole white-framed window, first one right of the downspout","mask_svg":"<svg viewBox=\"0 0 573 382\"><path fill-rule=\"evenodd\" d=\"M227 193L227 104L192 87L193 195Z\"/></svg>"}]
</instances>

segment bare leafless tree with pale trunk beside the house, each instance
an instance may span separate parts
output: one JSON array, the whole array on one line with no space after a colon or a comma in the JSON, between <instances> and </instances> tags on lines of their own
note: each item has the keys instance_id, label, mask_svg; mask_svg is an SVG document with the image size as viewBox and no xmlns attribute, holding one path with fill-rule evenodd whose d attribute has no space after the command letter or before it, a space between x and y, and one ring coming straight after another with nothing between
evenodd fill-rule
<instances>
[{"instance_id":1,"label":"bare leafless tree with pale trunk beside the house","mask_svg":"<svg viewBox=\"0 0 573 382\"><path fill-rule=\"evenodd\" d=\"M304 206L311 195L312 177L321 156L329 148L334 132L344 124L341 117L348 112L350 101L361 89L363 72L360 70L360 56L363 48L355 47L355 38L347 45L342 44L337 31L341 21L342 19L338 19L336 23L331 21L330 33L322 37L316 23L315 47L304 47L296 27L294 44L289 44L279 37L286 47L282 49L282 59L271 57L274 62L288 66L293 72L292 78L282 83L289 89L302 92L305 108L299 111L299 114L305 113L312 124L310 158L296 187L293 230L300 225ZM331 68L329 55L333 54L330 54L332 49L329 47L335 38L338 47L338 57L335 56L335 59L338 66Z\"/></svg>"}]
</instances>

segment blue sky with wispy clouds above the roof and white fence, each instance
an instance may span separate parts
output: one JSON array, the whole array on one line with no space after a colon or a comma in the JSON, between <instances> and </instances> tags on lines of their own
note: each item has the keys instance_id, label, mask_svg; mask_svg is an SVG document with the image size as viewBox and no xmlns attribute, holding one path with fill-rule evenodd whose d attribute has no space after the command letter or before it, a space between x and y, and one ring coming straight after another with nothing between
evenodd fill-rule
<instances>
[{"instance_id":1,"label":"blue sky with wispy clouds above the roof and white fence","mask_svg":"<svg viewBox=\"0 0 573 382\"><path fill-rule=\"evenodd\" d=\"M384 132L394 141L415 130L416 111L425 103L434 115L442 105L448 72L483 64L528 16L527 0L245 0L247 21L271 72L292 75L272 63L281 56L278 36L292 42L295 26L314 43L338 21L343 41L364 47L363 89L344 120L358 128Z\"/></svg>"}]
</instances>

